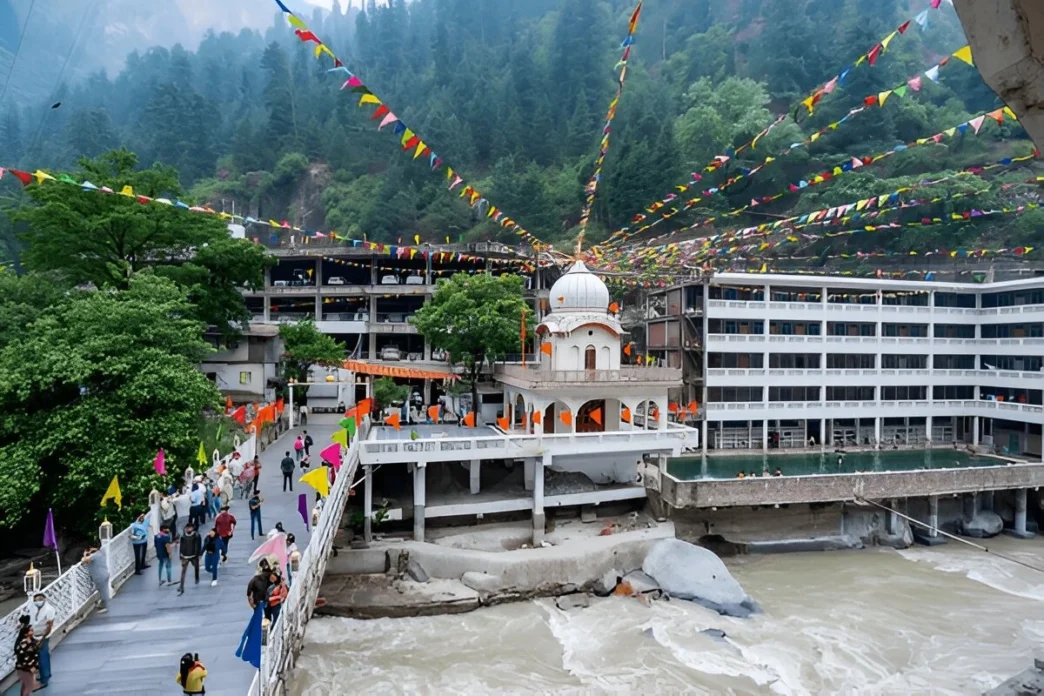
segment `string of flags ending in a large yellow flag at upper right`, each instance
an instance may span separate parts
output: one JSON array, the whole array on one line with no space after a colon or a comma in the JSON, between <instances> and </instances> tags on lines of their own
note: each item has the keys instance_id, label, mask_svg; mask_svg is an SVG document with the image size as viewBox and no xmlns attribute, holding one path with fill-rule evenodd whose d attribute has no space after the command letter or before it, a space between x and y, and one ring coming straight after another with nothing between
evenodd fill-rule
<instances>
[{"instance_id":1,"label":"string of flags ending in a large yellow flag at upper right","mask_svg":"<svg viewBox=\"0 0 1044 696\"><path fill-rule=\"evenodd\" d=\"M657 213L659 213L659 215L660 215L660 219L659 220L657 220L657 221L655 221L652 223L643 225L641 227L638 227L638 229L636 229L634 231L631 231L630 227L622 227L622 229L616 231L615 233L613 233L613 235L610 236L610 238L603 244L601 244L600 247L601 248L606 248L606 247L613 246L614 244L619 244L619 243L621 243L623 241L626 241L627 239L631 239L631 238L633 238L633 237L635 237L635 236L637 236L637 235L639 235L639 234L641 234L643 232L646 232L646 231L650 230L651 227L656 226L657 224L659 224L660 222L662 222L664 220L669 220L670 218L674 217L679 213L683 213L683 212L691 210L692 208L698 206L701 202L704 202L705 199L707 197L709 197L709 196L723 193L725 191L727 191L732 186L735 186L736 184L738 184L738 183L740 183L742 181L751 178L752 176L754 176L755 174L757 174L759 171L761 171L762 169L764 169L765 167L767 167L773 162L776 162L780 158L783 158L783 157L786 157L786 155L790 154L790 152L792 152L794 149L798 149L800 147L805 147L807 145L810 145L811 143L814 143L817 140L820 140L820 138L822 138L823 136L827 135L828 133L837 130L837 128L839 128L841 125L844 125L845 123L848 123L850 120L852 120L853 118L855 118L859 114L864 113L871 106L877 105L877 106L883 107L884 104L885 104L885 102L887 102L888 97L891 97L893 95L896 96L896 97L903 97L903 96L905 96L907 94L908 91L920 92L921 89L922 89L922 86L923 86L922 74L924 76L928 77L928 79L930 79L933 82L934 81L939 81L939 79L940 79L940 75L939 75L940 69L942 69L944 66L946 66L948 63L950 63L950 57L954 57L954 56L957 57L957 58L959 58L964 63L967 63L968 65L974 66L974 63L972 62L971 47L965 46L965 47L958 49L957 51L955 51L952 54L952 56L948 55L948 56L944 57L942 61L940 61L939 63L936 63L935 65L933 65L928 70L925 70L923 73L919 72L917 75L910 77L909 79L904 80L902 85L896 86L895 88L893 88L891 90L885 90L883 92L877 92L877 93L874 93L872 95L868 95L868 96L863 97L863 99L862 99L862 105L856 106L855 109L850 110L849 113L846 114L839 120L834 121L833 123L830 123L830 124L827 124L827 125L823 126L818 130L815 130L811 135L809 135L808 137L806 137L804 140L801 140L801 141L796 142L796 143L791 143L788 147L784 148L783 150L777 152L774 155L767 155L761 163L759 163L755 167L750 167L750 168L749 167L740 167L739 170L738 170L738 173L735 176L729 177L728 179L726 179L719 186L711 187L711 188L702 190L701 193L699 193L699 195L697 197L690 198L690 199L686 200L680 207L678 205L671 205L671 203L675 203L675 201L678 201L678 199L680 198L681 194L684 194L684 193L688 192L690 189L694 188L697 184L699 184L702 182L703 177L699 174L697 174L697 173L693 173L691 175L691 177L690 177L690 179L689 179L688 183L683 184L683 185L679 185L679 186L674 187L674 191L677 191L677 193L675 192L671 192L671 193L667 194L665 197L661 198L660 200L658 200L658 201L649 205L648 207L645 208L644 213L638 213L637 215L635 215L631 219L631 222L632 222L632 224L644 222L645 220L648 219L649 215L654 215L654 214L657 214ZM773 127L775 127L776 125L778 125L779 123L781 123L783 121L783 119L785 119L785 116L781 116L779 119L777 119L777 121L775 123L773 123L773 125L770 125L768 128L766 128L765 130L763 130L762 134L768 133ZM757 136L757 137L755 137L755 140L752 141L752 142L756 143L757 139L760 138L760 137L761 137L760 135Z\"/></svg>"}]
</instances>

